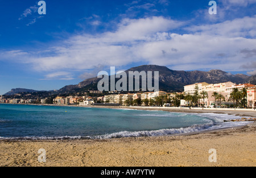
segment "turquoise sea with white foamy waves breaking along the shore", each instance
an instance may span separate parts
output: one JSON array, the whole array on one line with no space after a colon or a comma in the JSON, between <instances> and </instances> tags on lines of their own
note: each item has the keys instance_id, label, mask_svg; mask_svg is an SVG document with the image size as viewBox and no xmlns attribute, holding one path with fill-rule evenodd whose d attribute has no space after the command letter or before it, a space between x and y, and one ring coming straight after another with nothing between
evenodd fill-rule
<instances>
[{"instance_id":1,"label":"turquoise sea with white foamy waves breaking along the shore","mask_svg":"<svg viewBox=\"0 0 256 178\"><path fill-rule=\"evenodd\" d=\"M0 140L112 139L192 134L247 125L214 113L0 104Z\"/></svg>"}]
</instances>

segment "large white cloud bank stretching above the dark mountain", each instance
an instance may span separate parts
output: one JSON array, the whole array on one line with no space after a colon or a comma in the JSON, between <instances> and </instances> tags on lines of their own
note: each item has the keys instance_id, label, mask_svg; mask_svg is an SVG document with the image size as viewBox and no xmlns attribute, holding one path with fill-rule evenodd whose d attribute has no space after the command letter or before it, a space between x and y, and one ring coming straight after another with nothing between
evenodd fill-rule
<instances>
[{"instance_id":1,"label":"large white cloud bank stretching above the dark mountain","mask_svg":"<svg viewBox=\"0 0 256 178\"><path fill-rule=\"evenodd\" d=\"M177 70L241 71L243 64L255 60L251 47L256 46L253 32L256 16L217 24L187 25L163 16L126 18L117 24L115 31L73 35L36 55L30 51L14 54L23 53L19 56L21 59L37 71L47 72L89 70L97 65L123 67L132 63L166 65ZM183 28L185 33L174 33L178 28ZM95 76L94 73L89 71L80 77ZM64 76L72 78L71 74Z\"/></svg>"}]
</instances>

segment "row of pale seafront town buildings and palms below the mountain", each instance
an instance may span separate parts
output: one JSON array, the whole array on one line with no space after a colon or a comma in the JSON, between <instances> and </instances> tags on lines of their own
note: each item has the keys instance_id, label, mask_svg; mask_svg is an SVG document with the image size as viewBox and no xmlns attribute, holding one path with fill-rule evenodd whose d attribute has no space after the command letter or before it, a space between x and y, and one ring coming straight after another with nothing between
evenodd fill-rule
<instances>
[{"instance_id":1,"label":"row of pale seafront town buildings and palms below the mountain","mask_svg":"<svg viewBox=\"0 0 256 178\"><path fill-rule=\"evenodd\" d=\"M2 104L55 104L55 105L113 105L113 106L183 106L183 107L240 107L254 108L256 104L256 87L252 84L234 84L223 82L208 84L200 82L184 86L184 92L167 93L138 92L100 92L88 90L83 94L70 96L28 97L18 93L13 97L0 96Z\"/></svg>"}]
</instances>

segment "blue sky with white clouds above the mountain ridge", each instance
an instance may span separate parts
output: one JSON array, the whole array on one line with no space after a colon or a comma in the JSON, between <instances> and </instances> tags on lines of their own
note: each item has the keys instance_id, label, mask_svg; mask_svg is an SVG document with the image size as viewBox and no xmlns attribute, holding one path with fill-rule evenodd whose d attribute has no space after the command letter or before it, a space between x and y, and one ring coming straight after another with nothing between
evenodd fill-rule
<instances>
[{"instance_id":1,"label":"blue sky with white clouds above the mountain ridge","mask_svg":"<svg viewBox=\"0 0 256 178\"><path fill-rule=\"evenodd\" d=\"M146 64L256 74L256 0L38 2L0 0L0 94Z\"/></svg>"}]
</instances>

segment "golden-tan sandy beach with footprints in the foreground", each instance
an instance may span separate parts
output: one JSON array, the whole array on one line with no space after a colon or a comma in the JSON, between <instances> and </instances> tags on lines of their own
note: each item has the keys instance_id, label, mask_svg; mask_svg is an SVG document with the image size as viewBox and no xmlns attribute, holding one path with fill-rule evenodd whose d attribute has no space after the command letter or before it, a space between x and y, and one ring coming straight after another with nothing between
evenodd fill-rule
<instances>
[{"instance_id":1,"label":"golden-tan sandy beach with footprints in the foreground","mask_svg":"<svg viewBox=\"0 0 256 178\"><path fill-rule=\"evenodd\" d=\"M0 166L256 166L256 123L193 135L109 140L0 141ZM46 162L38 162L38 150ZM209 150L217 162L209 162Z\"/></svg>"}]
</instances>

